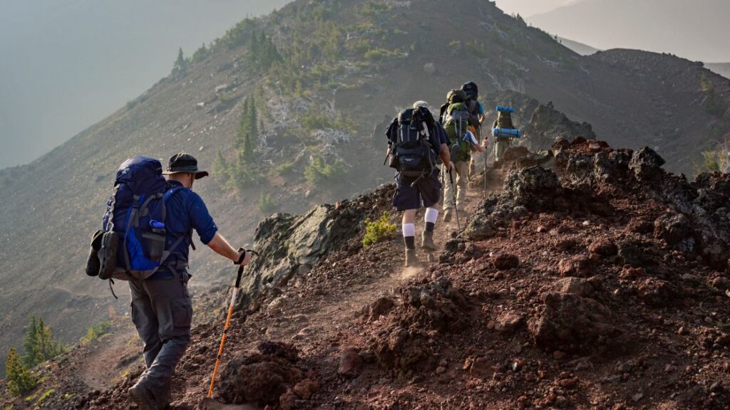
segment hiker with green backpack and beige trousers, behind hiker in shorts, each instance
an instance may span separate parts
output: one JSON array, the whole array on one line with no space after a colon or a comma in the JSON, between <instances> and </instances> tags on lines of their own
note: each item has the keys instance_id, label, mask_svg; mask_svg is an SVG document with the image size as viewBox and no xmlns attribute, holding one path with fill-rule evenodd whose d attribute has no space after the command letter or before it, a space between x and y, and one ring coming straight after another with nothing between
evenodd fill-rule
<instances>
[{"instance_id":1,"label":"hiker with green backpack and beige trousers, behind hiker in shorts","mask_svg":"<svg viewBox=\"0 0 730 410\"><path fill-rule=\"evenodd\" d=\"M447 103L441 109L441 123L452 142L450 158L456 170L456 187L448 184L444 187L444 222L450 222L454 208L457 218L458 213L466 209L469 161L472 159L472 152L484 152L487 139L480 144L475 134L469 130L472 115L466 106L464 90L450 90L446 99Z\"/></svg>"}]
</instances>

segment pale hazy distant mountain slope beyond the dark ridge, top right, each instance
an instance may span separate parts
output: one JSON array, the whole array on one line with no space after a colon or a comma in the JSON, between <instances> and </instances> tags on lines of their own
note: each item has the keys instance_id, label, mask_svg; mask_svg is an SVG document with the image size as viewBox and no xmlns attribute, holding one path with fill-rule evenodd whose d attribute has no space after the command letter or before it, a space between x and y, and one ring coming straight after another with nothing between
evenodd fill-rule
<instances>
[{"instance_id":1,"label":"pale hazy distant mountain slope beyond the dark ridge, top right","mask_svg":"<svg viewBox=\"0 0 730 410\"><path fill-rule=\"evenodd\" d=\"M534 26L607 50L636 48L694 61L729 61L724 0L585 0L528 18Z\"/></svg>"}]
</instances>

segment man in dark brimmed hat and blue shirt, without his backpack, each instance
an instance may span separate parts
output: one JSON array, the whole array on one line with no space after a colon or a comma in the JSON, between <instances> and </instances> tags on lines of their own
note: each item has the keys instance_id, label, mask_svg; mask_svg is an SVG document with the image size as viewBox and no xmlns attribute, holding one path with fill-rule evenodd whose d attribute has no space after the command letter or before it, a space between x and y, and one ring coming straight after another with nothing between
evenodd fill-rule
<instances>
[{"instance_id":1,"label":"man in dark brimmed hat and blue shirt, without his backpack","mask_svg":"<svg viewBox=\"0 0 730 410\"><path fill-rule=\"evenodd\" d=\"M191 341L193 304L188 293L188 254L193 230L202 244L245 266L250 252L239 253L218 233L203 199L194 193L193 182L207 177L199 171L192 155L180 153L169 160L169 190L175 190L167 204L167 246L179 243L155 274L141 282L129 281L132 322L145 344L147 369L129 389L129 396L141 410L165 409L170 401L170 380L177 362ZM177 188L177 189L176 189ZM177 241L186 237L187 240ZM194 249L194 246L193 246Z\"/></svg>"}]
</instances>

